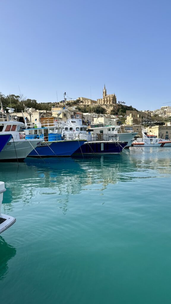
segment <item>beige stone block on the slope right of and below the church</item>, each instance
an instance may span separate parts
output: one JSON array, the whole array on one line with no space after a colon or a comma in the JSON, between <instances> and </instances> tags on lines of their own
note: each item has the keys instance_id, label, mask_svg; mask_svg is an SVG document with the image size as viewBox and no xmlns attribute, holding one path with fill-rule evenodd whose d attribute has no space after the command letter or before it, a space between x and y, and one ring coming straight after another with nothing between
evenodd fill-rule
<instances>
[{"instance_id":1,"label":"beige stone block on the slope right of and below the church","mask_svg":"<svg viewBox=\"0 0 171 304\"><path fill-rule=\"evenodd\" d=\"M140 112L140 111L126 111L127 119L125 123L127 125L137 124L140 125L141 123L147 123L151 121L151 112Z\"/></svg>"}]
</instances>

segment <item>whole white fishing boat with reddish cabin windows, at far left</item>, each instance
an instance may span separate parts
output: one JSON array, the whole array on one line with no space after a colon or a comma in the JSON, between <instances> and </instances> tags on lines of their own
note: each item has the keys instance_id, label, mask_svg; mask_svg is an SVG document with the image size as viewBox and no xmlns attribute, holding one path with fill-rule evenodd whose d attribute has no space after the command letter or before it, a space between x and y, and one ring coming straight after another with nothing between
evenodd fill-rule
<instances>
[{"instance_id":1,"label":"whole white fishing boat with reddish cabin windows, at far left","mask_svg":"<svg viewBox=\"0 0 171 304\"><path fill-rule=\"evenodd\" d=\"M22 134L24 123L18 121L1 121L0 134L11 134L12 139L0 152L0 161L24 160L43 139L25 139Z\"/></svg>"}]
</instances>

